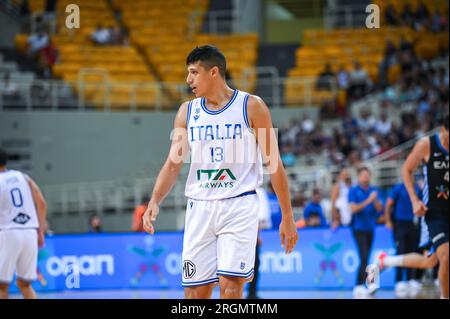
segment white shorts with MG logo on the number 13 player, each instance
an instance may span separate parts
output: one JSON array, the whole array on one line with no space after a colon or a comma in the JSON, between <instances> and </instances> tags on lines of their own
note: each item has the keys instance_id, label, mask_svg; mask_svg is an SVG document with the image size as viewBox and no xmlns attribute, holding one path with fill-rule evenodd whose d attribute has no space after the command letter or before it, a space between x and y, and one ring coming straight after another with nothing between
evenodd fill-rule
<instances>
[{"instance_id":1,"label":"white shorts with MG logo on the number 13 player","mask_svg":"<svg viewBox=\"0 0 450 319\"><path fill-rule=\"evenodd\" d=\"M183 287L217 283L219 276L251 281L258 237L258 196L189 199L183 239Z\"/></svg>"}]
</instances>

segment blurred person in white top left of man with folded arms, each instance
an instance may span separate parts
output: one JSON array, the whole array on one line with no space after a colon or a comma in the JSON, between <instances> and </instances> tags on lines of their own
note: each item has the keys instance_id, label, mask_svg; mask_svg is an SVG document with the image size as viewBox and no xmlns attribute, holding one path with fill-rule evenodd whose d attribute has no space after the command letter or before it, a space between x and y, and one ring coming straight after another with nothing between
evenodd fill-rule
<instances>
[{"instance_id":1,"label":"blurred person in white top left of man with folded arms","mask_svg":"<svg viewBox=\"0 0 450 319\"><path fill-rule=\"evenodd\" d=\"M348 226L352 221L352 211L348 201L348 193L352 187L352 177L348 168L344 167L331 189L332 228Z\"/></svg>"}]
</instances>

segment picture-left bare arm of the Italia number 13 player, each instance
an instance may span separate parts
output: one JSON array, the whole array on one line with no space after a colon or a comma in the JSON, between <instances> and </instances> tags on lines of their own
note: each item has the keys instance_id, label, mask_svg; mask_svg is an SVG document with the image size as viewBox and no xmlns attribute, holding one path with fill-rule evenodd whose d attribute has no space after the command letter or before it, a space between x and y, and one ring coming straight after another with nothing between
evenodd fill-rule
<instances>
[{"instance_id":1,"label":"picture-left bare arm of the Italia number 13 player","mask_svg":"<svg viewBox=\"0 0 450 319\"><path fill-rule=\"evenodd\" d=\"M169 155L156 178L151 199L142 217L144 230L152 235L155 233L153 222L159 213L159 205L167 194L169 194L173 185L175 185L184 163L183 160L188 154L189 143L186 130L187 108L188 102L183 103L175 116Z\"/></svg>"}]
</instances>

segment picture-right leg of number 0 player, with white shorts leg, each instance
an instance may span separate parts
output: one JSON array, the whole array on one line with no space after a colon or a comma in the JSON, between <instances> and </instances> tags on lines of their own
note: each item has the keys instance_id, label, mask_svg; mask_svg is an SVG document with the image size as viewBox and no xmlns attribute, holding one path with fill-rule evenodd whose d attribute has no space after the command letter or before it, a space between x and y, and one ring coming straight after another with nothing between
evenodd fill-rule
<instances>
[{"instance_id":1,"label":"picture-right leg of number 0 player, with white shorts leg","mask_svg":"<svg viewBox=\"0 0 450 319\"><path fill-rule=\"evenodd\" d=\"M16 230L22 237L22 249L17 258L17 287L25 299L36 299L31 282L37 280L37 231L35 229Z\"/></svg>"}]
</instances>

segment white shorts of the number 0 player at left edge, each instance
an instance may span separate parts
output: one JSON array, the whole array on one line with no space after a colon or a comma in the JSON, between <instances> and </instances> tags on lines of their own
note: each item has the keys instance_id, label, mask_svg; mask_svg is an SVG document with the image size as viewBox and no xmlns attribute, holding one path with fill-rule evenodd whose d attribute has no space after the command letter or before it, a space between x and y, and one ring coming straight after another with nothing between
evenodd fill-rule
<instances>
[{"instance_id":1,"label":"white shorts of the number 0 player at left edge","mask_svg":"<svg viewBox=\"0 0 450 319\"><path fill-rule=\"evenodd\" d=\"M11 283L14 272L23 281L37 279L36 229L0 230L0 282Z\"/></svg>"}]
</instances>

